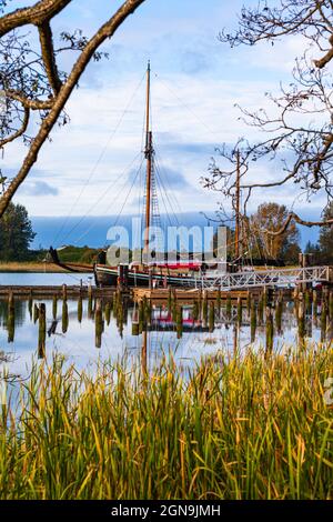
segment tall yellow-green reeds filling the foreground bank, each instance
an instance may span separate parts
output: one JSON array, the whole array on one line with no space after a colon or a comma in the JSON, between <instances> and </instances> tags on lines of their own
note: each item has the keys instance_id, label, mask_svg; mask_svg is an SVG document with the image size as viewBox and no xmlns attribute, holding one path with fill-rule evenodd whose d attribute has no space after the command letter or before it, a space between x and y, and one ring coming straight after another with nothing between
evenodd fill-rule
<instances>
[{"instance_id":1,"label":"tall yellow-green reeds filling the foreground bank","mask_svg":"<svg viewBox=\"0 0 333 522\"><path fill-rule=\"evenodd\" d=\"M221 354L189 374L164 362L149 379L36 365L19 419L3 411L0 498L331 499L330 377L320 345Z\"/></svg>"}]
</instances>

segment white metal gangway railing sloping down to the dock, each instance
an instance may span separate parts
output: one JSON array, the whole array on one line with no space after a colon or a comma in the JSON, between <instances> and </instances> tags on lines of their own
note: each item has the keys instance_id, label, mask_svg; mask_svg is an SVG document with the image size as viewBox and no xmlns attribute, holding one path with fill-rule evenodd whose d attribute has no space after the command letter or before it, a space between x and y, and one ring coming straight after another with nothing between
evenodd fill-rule
<instances>
[{"instance_id":1,"label":"white metal gangway railing sloping down to the dock","mask_svg":"<svg viewBox=\"0 0 333 522\"><path fill-rule=\"evenodd\" d=\"M196 280L196 288L222 290L274 285L292 288L300 283L329 282L331 271L330 267L307 267L223 273L211 278L202 274L201 279Z\"/></svg>"}]
</instances>

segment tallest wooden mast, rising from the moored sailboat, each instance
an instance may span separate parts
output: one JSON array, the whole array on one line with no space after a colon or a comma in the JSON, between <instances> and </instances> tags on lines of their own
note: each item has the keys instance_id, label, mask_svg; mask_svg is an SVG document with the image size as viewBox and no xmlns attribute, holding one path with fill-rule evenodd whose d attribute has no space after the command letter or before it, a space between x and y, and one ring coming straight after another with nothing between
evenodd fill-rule
<instances>
[{"instance_id":1,"label":"tallest wooden mast, rising from the moored sailboat","mask_svg":"<svg viewBox=\"0 0 333 522\"><path fill-rule=\"evenodd\" d=\"M147 179L145 179L145 231L143 251L148 253L149 249L149 228L151 212L151 174L152 174L152 132L150 130L150 61L147 69L147 109L145 109L145 150L147 159Z\"/></svg>"}]
</instances>

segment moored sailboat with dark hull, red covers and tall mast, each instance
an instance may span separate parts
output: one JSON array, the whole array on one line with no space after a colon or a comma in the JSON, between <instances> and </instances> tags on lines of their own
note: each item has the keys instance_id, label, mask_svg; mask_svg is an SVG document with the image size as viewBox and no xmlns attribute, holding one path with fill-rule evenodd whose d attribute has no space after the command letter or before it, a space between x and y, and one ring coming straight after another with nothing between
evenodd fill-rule
<instances>
[{"instance_id":1,"label":"moored sailboat with dark hull, red covers and tall mast","mask_svg":"<svg viewBox=\"0 0 333 522\"><path fill-rule=\"evenodd\" d=\"M151 67L147 69L147 110L145 110L145 148L144 158L147 163L145 174L145 215L144 215L144 244L142 259L148 259L150 249L150 227L153 211L153 185L154 185L154 147L153 133L150 122L150 98L151 98ZM189 255L190 258L190 255ZM94 264L94 277L97 285L115 287L119 284L128 287L194 287L202 263L192 259L181 260L178 255L175 261L147 262L141 264L108 265L107 252L101 252ZM196 275L196 277L195 277Z\"/></svg>"}]
</instances>

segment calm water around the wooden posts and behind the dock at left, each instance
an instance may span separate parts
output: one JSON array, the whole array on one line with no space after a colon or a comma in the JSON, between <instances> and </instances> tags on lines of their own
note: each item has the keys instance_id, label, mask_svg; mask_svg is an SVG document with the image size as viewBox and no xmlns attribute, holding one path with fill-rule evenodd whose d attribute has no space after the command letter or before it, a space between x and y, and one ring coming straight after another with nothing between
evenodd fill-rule
<instances>
[{"instance_id":1,"label":"calm water around the wooden posts and behind the dock at left","mask_svg":"<svg viewBox=\"0 0 333 522\"><path fill-rule=\"evenodd\" d=\"M77 278L79 281L81 279ZM89 275L82 277L88 281ZM29 282L28 282L29 281ZM1 284L73 284L70 274L0 274ZM78 301L68 301L68 328L63 332L62 302L58 301L57 318L52 318L52 301L43 300L47 308L47 358L53 353L63 354L69 362L78 368L88 368L98 360L117 360L127 355L129 361L139 362L143 343L142 334L132 335L132 319L137 310L133 305L124 312L121 331L117 319L111 312L110 323L104 321L101 347L95 347L95 324L93 313L89 313L88 301L83 301L82 320L78 320ZM39 304L40 301L36 301ZM28 301L16 301L14 304L13 340L9 339L8 304L0 301L0 352L2 358L9 359L9 371L13 374L26 375L29 372L32 357L37 359L38 321L33 321L33 313ZM33 312L33 310L32 310ZM178 363L191 365L200 358L218 351L232 351L235 342L240 349L250 344L250 320L248 312L243 311L243 324L236 325L236 310L233 310L231 321L226 320L225 310L215 314L215 328L209 332L202 321L193 321L193 308L183 308L183 333L178 339L176 325L165 308L153 308L151 329L148 332L148 359L152 365L158 362L163 352L171 351ZM320 341L320 320L312 317L306 320L307 334L314 341ZM274 348L279 349L284 342L294 343L297 339L297 325L292 303L284 305L283 332L274 337ZM258 327L255 347L265 344L265 328ZM1 367L1 363L0 363Z\"/></svg>"}]
</instances>

